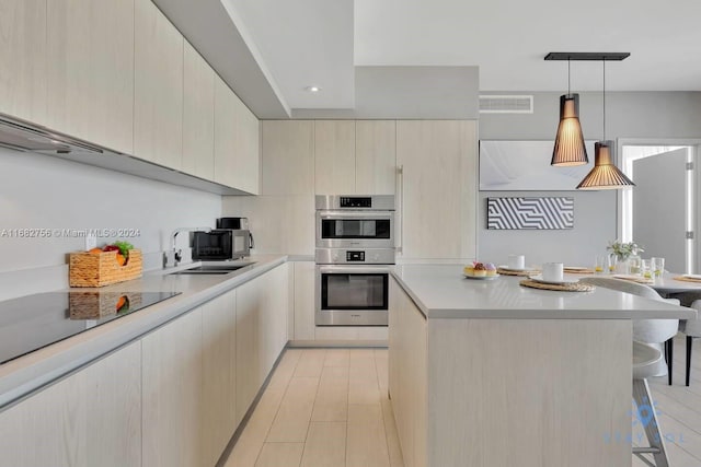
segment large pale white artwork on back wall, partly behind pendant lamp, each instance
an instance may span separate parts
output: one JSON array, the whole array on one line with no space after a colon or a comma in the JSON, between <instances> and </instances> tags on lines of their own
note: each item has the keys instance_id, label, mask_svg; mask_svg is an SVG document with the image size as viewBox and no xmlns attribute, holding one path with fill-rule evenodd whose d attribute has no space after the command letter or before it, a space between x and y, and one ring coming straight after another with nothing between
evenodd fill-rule
<instances>
[{"instance_id":1,"label":"large pale white artwork on back wall, partly behind pendant lamp","mask_svg":"<svg viewBox=\"0 0 701 467\"><path fill-rule=\"evenodd\" d=\"M550 165L554 141L480 141L480 190L567 191L594 167L594 141L585 147L589 163Z\"/></svg>"}]
</instances>

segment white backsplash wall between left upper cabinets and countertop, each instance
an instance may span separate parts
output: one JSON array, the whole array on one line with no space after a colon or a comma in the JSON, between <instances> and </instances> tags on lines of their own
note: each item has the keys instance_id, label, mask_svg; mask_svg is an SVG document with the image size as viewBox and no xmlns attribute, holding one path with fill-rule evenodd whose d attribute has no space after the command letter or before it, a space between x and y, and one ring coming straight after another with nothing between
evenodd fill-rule
<instances>
[{"instance_id":1,"label":"white backsplash wall between left upper cabinets and countertop","mask_svg":"<svg viewBox=\"0 0 701 467\"><path fill-rule=\"evenodd\" d=\"M13 229L137 229L139 236L124 240L156 257L175 227L214 226L221 213L219 195L46 155L0 148L0 235ZM68 285L67 254L82 250L83 238L16 238L8 231L0 236L0 300Z\"/></svg>"}]
</instances>

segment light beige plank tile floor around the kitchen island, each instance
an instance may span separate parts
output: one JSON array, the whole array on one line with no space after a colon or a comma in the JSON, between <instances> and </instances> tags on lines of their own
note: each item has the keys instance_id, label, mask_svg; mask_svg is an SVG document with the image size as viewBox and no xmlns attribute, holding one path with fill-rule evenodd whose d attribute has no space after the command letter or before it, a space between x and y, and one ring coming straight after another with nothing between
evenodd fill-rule
<instances>
[{"instance_id":1,"label":"light beige plank tile floor around the kitchen island","mask_svg":"<svg viewBox=\"0 0 701 467\"><path fill-rule=\"evenodd\" d=\"M226 467L403 466L387 398L387 349L288 349ZM675 340L674 386L650 382L673 467L701 466L701 339L691 386ZM647 466L633 456L633 467Z\"/></svg>"}]
</instances>

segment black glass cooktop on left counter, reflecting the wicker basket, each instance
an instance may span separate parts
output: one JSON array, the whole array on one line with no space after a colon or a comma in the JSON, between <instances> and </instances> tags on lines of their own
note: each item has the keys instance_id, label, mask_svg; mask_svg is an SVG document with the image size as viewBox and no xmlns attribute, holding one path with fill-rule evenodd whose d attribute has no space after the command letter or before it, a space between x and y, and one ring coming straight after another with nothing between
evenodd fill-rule
<instances>
[{"instance_id":1,"label":"black glass cooktop on left counter, reflecting the wicker basket","mask_svg":"<svg viewBox=\"0 0 701 467\"><path fill-rule=\"evenodd\" d=\"M0 364L181 292L48 292L0 302Z\"/></svg>"}]
</instances>

